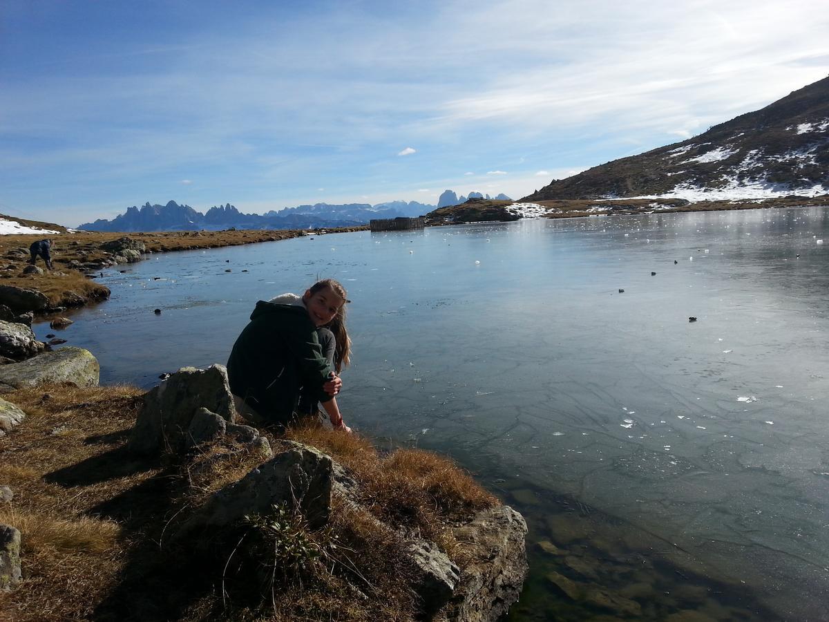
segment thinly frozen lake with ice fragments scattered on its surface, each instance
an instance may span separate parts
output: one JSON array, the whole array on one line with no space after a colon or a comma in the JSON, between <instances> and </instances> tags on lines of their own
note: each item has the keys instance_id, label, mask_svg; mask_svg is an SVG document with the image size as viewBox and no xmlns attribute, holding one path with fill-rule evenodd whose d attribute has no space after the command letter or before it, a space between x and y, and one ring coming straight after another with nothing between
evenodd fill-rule
<instances>
[{"instance_id":1,"label":"thinly frozen lake with ice fragments scattered on its surface","mask_svg":"<svg viewBox=\"0 0 829 622\"><path fill-rule=\"evenodd\" d=\"M824 236L804 208L153 255L61 337L103 382L152 386L225 362L257 299L335 277L347 421L452 454L527 518L513 619L826 620Z\"/></svg>"}]
</instances>

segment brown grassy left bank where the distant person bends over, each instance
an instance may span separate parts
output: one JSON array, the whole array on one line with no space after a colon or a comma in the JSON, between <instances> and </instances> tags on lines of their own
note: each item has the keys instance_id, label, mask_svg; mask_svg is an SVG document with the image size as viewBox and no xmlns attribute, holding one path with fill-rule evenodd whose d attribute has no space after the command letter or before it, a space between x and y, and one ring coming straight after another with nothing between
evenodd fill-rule
<instances>
[{"instance_id":1,"label":"brown grassy left bank where the distant person bends over","mask_svg":"<svg viewBox=\"0 0 829 622\"><path fill-rule=\"evenodd\" d=\"M308 231L156 231L149 233L109 233L98 231L65 231L65 227L46 225L42 222L21 221L24 225L39 226L63 231L59 234L7 235L0 236L0 286L34 289L46 295L48 304L37 309L14 309L16 312L32 310L35 313L49 313L60 308L78 307L90 302L109 298L109 288L95 283L95 271L109 265L140 260L143 252L164 253L175 250L195 250L273 242L307 235ZM361 231L367 227L341 227L327 229L328 233ZM312 231L313 232L313 231ZM117 242L127 236L139 244ZM53 241L51 258L54 270L43 270L23 274L29 260L29 245L49 237ZM141 248L138 254L123 250ZM46 266L38 259L36 265Z\"/></svg>"}]
</instances>

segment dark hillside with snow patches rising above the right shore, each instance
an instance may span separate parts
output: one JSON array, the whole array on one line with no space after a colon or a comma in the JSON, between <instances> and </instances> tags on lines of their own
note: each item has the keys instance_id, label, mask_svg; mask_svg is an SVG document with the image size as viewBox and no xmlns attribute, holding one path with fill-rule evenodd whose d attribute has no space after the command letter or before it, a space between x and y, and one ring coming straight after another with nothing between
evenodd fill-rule
<instances>
[{"instance_id":1,"label":"dark hillside with snow patches rising above the right shore","mask_svg":"<svg viewBox=\"0 0 829 622\"><path fill-rule=\"evenodd\" d=\"M521 201L666 196L692 201L829 192L829 77L705 134L589 168Z\"/></svg>"}]
</instances>

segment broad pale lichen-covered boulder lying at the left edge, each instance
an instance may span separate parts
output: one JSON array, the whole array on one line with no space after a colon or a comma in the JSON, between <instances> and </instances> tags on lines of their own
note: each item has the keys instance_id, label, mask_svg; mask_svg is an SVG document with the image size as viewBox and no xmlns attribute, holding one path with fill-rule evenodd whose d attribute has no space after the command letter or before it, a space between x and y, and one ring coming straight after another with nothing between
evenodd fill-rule
<instances>
[{"instance_id":1,"label":"broad pale lichen-covered boulder lying at the left edge","mask_svg":"<svg viewBox=\"0 0 829 622\"><path fill-rule=\"evenodd\" d=\"M61 347L43 352L27 361L0 367L0 391L47 382L73 382L77 386L98 386L100 367L92 352L82 347Z\"/></svg>"}]
</instances>

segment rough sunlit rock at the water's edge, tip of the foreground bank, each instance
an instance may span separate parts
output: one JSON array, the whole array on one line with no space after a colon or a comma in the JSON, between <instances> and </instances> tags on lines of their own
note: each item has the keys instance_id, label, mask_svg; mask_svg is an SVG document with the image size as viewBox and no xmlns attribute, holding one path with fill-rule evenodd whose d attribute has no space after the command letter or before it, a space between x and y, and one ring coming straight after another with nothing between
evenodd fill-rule
<instances>
[{"instance_id":1,"label":"rough sunlit rock at the water's edge, tip of the foreground bank","mask_svg":"<svg viewBox=\"0 0 829 622\"><path fill-rule=\"evenodd\" d=\"M463 568L452 620L495 622L518 600L526 578L526 522L509 506L484 510L454 530L473 561Z\"/></svg>"}]
</instances>

